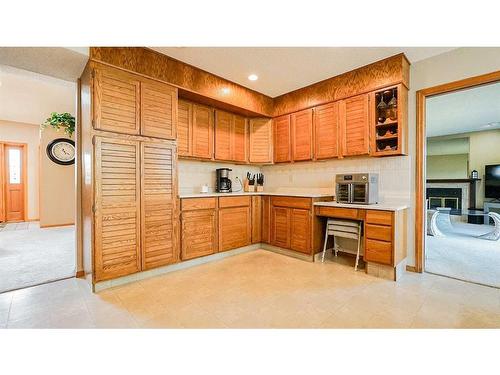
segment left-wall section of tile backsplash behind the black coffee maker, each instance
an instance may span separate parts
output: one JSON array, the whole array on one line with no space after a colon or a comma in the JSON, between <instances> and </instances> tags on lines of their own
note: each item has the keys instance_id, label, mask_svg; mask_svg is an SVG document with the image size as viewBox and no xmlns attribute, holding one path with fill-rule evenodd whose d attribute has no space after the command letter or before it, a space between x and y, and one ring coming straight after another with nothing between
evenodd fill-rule
<instances>
[{"instance_id":1,"label":"left-wall section of tile backsplash behind the black coffee maker","mask_svg":"<svg viewBox=\"0 0 500 375\"><path fill-rule=\"evenodd\" d=\"M261 168L254 165L238 165L228 163L205 162L198 160L179 160L179 194L199 193L201 186L208 185L209 192L215 191L215 170L217 168L230 168L229 178L233 182L233 191L240 189L240 184L236 180L238 177L243 183L243 178L247 172L259 173Z\"/></svg>"}]
</instances>

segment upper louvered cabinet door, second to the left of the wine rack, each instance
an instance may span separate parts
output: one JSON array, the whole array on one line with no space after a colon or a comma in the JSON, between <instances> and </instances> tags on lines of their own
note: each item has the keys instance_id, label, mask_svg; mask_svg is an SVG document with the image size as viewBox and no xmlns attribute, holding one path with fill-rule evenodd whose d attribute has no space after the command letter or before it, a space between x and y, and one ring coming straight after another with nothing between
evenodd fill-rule
<instances>
[{"instance_id":1,"label":"upper louvered cabinet door, second to the left of the wine rack","mask_svg":"<svg viewBox=\"0 0 500 375\"><path fill-rule=\"evenodd\" d=\"M335 158L338 154L338 102L314 109L314 156L316 159Z\"/></svg>"}]
</instances>

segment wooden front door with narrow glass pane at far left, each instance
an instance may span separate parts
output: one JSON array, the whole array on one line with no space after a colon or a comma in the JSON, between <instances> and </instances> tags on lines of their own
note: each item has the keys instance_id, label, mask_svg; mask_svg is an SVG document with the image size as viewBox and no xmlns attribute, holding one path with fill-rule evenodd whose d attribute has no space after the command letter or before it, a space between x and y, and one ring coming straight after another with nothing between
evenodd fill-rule
<instances>
[{"instance_id":1,"label":"wooden front door with narrow glass pane at far left","mask_svg":"<svg viewBox=\"0 0 500 375\"><path fill-rule=\"evenodd\" d=\"M0 143L0 222L26 220L27 145Z\"/></svg>"}]
</instances>

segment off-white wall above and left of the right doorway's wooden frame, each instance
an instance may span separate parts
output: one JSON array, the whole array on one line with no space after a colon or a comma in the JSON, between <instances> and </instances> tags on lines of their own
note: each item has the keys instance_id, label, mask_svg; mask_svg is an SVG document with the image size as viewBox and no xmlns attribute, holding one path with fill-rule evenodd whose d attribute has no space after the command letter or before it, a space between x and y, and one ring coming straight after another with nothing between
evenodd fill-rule
<instances>
[{"instance_id":1,"label":"off-white wall above and left of the right doorway's wooden frame","mask_svg":"<svg viewBox=\"0 0 500 375\"><path fill-rule=\"evenodd\" d=\"M500 70L500 48L459 48L421 60L410 67L408 101L409 169L411 177L410 223L408 228L408 264L415 264L415 152L416 95L418 90Z\"/></svg>"}]
</instances>

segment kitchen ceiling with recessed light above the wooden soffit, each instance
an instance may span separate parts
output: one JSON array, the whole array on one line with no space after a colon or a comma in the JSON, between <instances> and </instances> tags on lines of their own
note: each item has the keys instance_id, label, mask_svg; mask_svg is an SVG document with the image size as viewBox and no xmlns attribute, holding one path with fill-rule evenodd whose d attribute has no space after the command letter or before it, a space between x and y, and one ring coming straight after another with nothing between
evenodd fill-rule
<instances>
[{"instance_id":1,"label":"kitchen ceiling with recessed light above the wooden soffit","mask_svg":"<svg viewBox=\"0 0 500 375\"><path fill-rule=\"evenodd\" d=\"M411 63L449 47L155 47L270 97L308 86L378 60L405 53ZM257 74L257 81L248 80Z\"/></svg>"}]
</instances>

